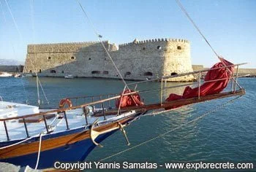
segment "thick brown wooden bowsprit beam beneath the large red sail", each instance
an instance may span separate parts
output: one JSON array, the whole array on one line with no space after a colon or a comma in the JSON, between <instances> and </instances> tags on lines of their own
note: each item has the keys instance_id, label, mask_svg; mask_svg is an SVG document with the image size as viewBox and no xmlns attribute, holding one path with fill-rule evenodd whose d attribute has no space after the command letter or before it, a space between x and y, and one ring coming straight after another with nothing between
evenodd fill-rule
<instances>
[{"instance_id":1,"label":"thick brown wooden bowsprit beam beneath the large red sail","mask_svg":"<svg viewBox=\"0 0 256 172\"><path fill-rule=\"evenodd\" d=\"M203 101L211 101L214 99L219 99L219 98L227 98L230 96L236 96L236 95L244 95L245 94L245 90L244 89L240 89L237 90L236 92L230 91L230 92L226 92L226 93L217 93L214 95L206 95L206 96L200 96L200 99L195 97L195 98L186 98L186 99L179 99L177 101L165 101L162 104L161 103L154 103L154 104L148 104L148 105L143 105L143 106L130 106L124 109L121 109L121 112L127 112L130 110L153 110L153 109L162 109L162 108L167 108L167 107L171 107L171 106L185 106L188 104L192 104L192 103L200 103ZM115 114L117 112L117 109L113 109L113 110L108 110L105 112L105 115L111 115L111 114ZM100 117L102 116L102 113L99 114L94 114L95 117Z\"/></svg>"}]
</instances>

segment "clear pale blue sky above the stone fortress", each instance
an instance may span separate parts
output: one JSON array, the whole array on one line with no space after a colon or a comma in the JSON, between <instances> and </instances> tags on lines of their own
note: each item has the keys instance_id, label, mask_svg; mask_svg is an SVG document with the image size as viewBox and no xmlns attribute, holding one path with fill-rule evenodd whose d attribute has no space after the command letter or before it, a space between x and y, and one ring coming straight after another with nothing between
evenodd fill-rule
<instances>
[{"instance_id":1,"label":"clear pale blue sky above the stone fortress","mask_svg":"<svg viewBox=\"0 0 256 172\"><path fill-rule=\"evenodd\" d=\"M0 58L25 60L26 45L33 42L97 41L76 0L34 0L34 40L31 0L7 0L21 36L7 4L0 1L3 7L3 11L0 9ZM175 0L80 1L103 39L117 44L135 38L188 39L192 64L211 66L217 62ZM181 3L219 55L233 63L249 63L245 68L256 68L256 1L181 0Z\"/></svg>"}]
</instances>

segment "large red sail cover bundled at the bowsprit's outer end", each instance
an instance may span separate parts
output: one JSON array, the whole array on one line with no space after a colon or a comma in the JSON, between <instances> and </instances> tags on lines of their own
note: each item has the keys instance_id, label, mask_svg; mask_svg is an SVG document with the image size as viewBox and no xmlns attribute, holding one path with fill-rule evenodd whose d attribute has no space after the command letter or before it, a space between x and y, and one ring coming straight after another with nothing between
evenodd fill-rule
<instances>
[{"instance_id":1,"label":"large red sail cover bundled at the bowsprit's outer end","mask_svg":"<svg viewBox=\"0 0 256 172\"><path fill-rule=\"evenodd\" d=\"M229 77L233 74L233 63L225 60L224 58L220 58L221 62L216 63L211 67L212 70L208 71L205 77L205 81L222 79L214 82L206 82L200 86L200 96L204 95L212 95L216 93L220 93L222 90L227 87L227 83L229 81ZM217 69L222 66L230 66L222 69ZM184 90L183 95L170 94L169 97L165 101L175 101L181 98L194 98L198 96L198 87L192 88L187 86ZM171 106L166 109L177 108L178 106Z\"/></svg>"}]
</instances>

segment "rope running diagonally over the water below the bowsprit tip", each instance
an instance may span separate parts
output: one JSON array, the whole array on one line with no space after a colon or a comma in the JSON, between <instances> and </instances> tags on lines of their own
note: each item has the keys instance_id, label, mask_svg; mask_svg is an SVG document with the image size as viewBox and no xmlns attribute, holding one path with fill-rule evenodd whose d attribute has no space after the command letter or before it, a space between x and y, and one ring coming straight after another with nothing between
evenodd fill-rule
<instances>
[{"instance_id":1,"label":"rope running diagonally over the water below the bowsprit tip","mask_svg":"<svg viewBox=\"0 0 256 172\"><path fill-rule=\"evenodd\" d=\"M217 106L215 109L211 109L210 111L206 112L205 114L200 115L200 117L196 117L194 120L191 120L191 121L186 122L186 123L184 123L184 124L182 124L182 125L179 125L178 127L173 128L172 130L168 130L168 131L166 131L165 133L159 134L158 136L155 136L154 138L151 138L151 139L149 139L149 140L147 140L147 141L143 141L143 142L141 142L140 144L137 144L137 145L135 145L135 146L132 146L132 147L130 147L130 148L128 148L128 149L124 149L124 150L122 150L121 152L117 152L116 154L113 154L113 155L110 155L110 156L108 156L108 157L102 158L102 159L99 160L99 161L108 160L108 159L111 158L111 157L116 157L117 155L121 155L121 154L124 153L124 152L127 152L127 151L129 151L129 150L135 149L135 148L137 148L137 147L139 147L139 146L142 146L143 144L147 144L147 143L150 142L150 141L154 141L154 140L157 139L157 138L160 138L160 137L162 137L162 136L165 136L165 135L167 135L168 133L171 133L171 132L173 132L173 131L175 131L175 130L178 130L178 129L180 129L180 128L186 126L186 125L189 125L189 124L191 124L192 122L195 122L195 121L197 121L197 120L200 120L200 119L202 119L203 117L206 117L208 114L211 114L212 112L216 112L218 109L221 109L221 108L227 106L228 103L232 103L233 101L235 101L236 99L240 98L241 96L242 96L242 95L240 95L240 96L238 96L238 97L236 97L236 98L233 98L233 99L231 99L230 101L226 101L226 102L223 103L222 105Z\"/></svg>"}]
</instances>

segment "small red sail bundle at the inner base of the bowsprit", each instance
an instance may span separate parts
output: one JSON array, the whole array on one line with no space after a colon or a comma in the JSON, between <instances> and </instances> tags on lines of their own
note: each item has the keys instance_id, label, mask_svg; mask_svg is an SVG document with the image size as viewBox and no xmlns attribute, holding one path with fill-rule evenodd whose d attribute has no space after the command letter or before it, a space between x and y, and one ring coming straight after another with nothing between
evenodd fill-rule
<instances>
[{"instance_id":1,"label":"small red sail bundle at the inner base of the bowsprit","mask_svg":"<svg viewBox=\"0 0 256 172\"><path fill-rule=\"evenodd\" d=\"M132 93L134 90L125 90L124 94ZM122 93L120 94L122 95ZM128 106L140 106L144 105L143 101L140 101L140 95L138 93L132 94L132 95L124 95L122 98L116 99L116 108L119 107L121 101L120 108L128 107Z\"/></svg>"}]
</instances>

